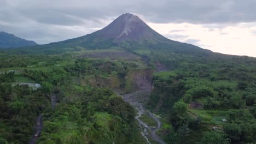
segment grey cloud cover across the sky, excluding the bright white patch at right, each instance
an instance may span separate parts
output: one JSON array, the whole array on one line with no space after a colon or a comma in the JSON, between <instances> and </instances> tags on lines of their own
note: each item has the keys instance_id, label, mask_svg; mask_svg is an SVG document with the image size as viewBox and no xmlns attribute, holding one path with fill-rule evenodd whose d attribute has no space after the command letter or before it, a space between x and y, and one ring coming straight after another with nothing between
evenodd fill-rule
<instances>
[{"instance_id":1,"label":"grey cloud cover across the sky, excluding the bright white patch at right","mask_svg":"<svg viewBox=\"0 0 256 144\"><path fill-rule=\"evenodd\" d=\"M155 23L200 23L211 31L256 21L255 7L254 0L0 0L0 31L44 44L88 34L125 12Z\"/></svg>"}]
</instances>

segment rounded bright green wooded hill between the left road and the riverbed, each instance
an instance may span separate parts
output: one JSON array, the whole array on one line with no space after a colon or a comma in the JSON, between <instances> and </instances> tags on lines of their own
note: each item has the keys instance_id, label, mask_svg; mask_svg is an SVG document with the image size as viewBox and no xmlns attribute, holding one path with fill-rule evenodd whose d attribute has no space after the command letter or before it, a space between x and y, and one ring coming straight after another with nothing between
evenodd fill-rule
<instances>
[{"instance_id":1,"label":"rounded bright green wooded hill between the left road and the riverbed","mask_svg":"<svg viewBox=\"0 0 256 144\"><path fill-rule=\"evenodd\" d=\"M136 139L135 111L112 91L90 87L67 91L72 94L66 94L70 96L65 103L45 113L49 117L39 141L50 137L61 143L129 143Z\"/></svg>"}]
</instances>

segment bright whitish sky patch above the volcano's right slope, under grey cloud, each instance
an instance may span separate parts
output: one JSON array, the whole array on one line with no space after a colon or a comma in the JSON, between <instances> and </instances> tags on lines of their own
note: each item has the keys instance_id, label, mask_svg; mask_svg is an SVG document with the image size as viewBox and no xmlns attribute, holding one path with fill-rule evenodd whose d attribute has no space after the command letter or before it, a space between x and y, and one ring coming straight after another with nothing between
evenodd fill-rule
<instances>
[{"instance_id":1,"label":"bright whitish sky patch above the volcano's right slope, under grey cloud","mask_svg":"<svg viewBox=\"0 0 256 144\"><path fill-rule=\"evenodd\" d=\"M212 28L192 23L148 23L165 37L230 55L256 57L256 22ZM166 31L168 29L169 31Z\"/></svg>"}]
</instances>

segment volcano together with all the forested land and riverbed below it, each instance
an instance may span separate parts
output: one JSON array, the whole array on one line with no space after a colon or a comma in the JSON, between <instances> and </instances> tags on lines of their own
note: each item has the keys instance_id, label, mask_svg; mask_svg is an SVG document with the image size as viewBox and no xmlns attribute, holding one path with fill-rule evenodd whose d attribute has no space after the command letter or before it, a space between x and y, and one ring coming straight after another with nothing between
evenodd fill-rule
<instances>
[{"instance_id":1,"label":"volcano together with all the forested land and riverbed below it","mask_svg":"<svg viewBox=\"0 0 256 144\"><path fill-rule=\"evenodd\" d=\"M129 13L0 61L0 143L256 140L256 58L167 39Z\"/></svg>"}]
</instances>

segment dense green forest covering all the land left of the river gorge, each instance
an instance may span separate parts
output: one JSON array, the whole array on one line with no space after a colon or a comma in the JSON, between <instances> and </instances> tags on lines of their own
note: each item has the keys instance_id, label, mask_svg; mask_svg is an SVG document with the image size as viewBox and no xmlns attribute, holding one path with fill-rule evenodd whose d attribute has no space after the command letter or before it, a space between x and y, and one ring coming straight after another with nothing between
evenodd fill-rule
<instances>
[{"instance_id":1,"label":"dense green forest covering all the land left of the river gorge","mask_svg":"<svg viewBox=\"0 0 256 144\"><path fill-rule=\"evenodd\" d=\"M107 75L122 81L134 64L72 55L2 56L0 143L27 143L39 115L44 123L38 143L143 143L131 105L107 87L79 83Z\"/></svg>"}]
</instances>

